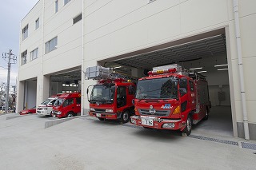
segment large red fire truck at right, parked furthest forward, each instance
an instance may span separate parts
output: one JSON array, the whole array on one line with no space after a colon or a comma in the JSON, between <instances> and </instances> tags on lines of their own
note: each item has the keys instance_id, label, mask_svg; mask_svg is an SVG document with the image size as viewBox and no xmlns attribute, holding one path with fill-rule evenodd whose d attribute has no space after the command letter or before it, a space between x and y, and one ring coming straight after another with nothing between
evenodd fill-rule
<instances>
[{"instance_id":1,"label":"large red fire truck at right, parked furthest forward","mask_svg":"<svg viewBox=\"0 0 256 170\"><path fill-rule=\"evenodd\" d=\"M144 128L191 133L203 118L208 119L210 100L206 77L182 71L180 65L154 68L138 80L131 123Z\"/></svg>"}]
</instances>

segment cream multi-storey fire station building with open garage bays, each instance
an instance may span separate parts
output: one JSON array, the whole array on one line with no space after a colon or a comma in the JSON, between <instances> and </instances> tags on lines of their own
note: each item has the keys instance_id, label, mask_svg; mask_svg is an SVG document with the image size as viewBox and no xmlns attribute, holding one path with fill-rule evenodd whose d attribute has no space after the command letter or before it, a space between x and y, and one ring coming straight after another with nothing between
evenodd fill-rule
<instances>
[{"instance_id":1,"label":"cream multi-storey fire station building with open garage bays","mask_svg":"<svg viewBox=\"0 0 256 170\"><path fill-rule=\"evenodd\" d=\"M146 77L178 63L206 76L209 133L256 140L254 0L39 0L22 19L17 111L81 91L86 68ZM205 132L205 131L204 131Z\"/></svg>"}]
</instances>

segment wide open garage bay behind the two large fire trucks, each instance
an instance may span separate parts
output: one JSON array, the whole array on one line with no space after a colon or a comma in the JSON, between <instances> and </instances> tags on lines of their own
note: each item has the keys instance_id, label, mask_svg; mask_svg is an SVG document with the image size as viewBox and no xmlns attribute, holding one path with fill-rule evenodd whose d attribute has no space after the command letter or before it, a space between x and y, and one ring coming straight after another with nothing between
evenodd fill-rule
<instances>
[{"instance_id":1,"label":"wide open garage bay behind the two large fire trucks","mask_svg":"<svg viewBox=\"0 0 256 170\"><path fill-rule=\"evenodd\" d=\"M99 63L134 77L145 77L147 71L153 67L174 63L182 65L183 69L202 73L208 81L212 108L209 120L195 125L192 132L233 136L225 30L222 30L221 34L192 42L171 45L163 49L161 45L158 47L160 49L155 50L152 47L153 51L128 57L122 55Z\"/></svg>"}]
</instances>

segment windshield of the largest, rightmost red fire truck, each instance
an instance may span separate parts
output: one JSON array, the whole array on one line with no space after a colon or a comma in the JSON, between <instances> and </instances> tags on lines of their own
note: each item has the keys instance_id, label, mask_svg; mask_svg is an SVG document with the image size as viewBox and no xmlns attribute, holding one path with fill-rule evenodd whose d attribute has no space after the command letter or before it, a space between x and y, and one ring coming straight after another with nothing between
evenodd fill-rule
<instances>
[{"instance_id":1,"label":"windshield of the largest, rightmost red fire truck","mask_svg":"<svg viewBox=\"0 0 256 170\"><path fill-rule=\"evenodd\" d=\"M178 82L174 77L138 81L137 99L177 99Z\"/></svg>"}]
</instances>

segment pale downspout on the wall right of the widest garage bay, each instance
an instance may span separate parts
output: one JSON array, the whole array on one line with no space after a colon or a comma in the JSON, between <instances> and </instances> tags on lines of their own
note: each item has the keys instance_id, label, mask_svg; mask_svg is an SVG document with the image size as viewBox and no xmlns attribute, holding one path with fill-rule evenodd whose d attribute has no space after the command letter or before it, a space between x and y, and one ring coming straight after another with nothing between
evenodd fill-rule
<instances>
[{"instance_id":1,"label":"pale downspout on the wall right of the widest garage bay","mask_svg":"<svg viewBox=\"0 0 256 170\"><path fill-rule=\"evenodd\" d=\"M234 7L234 26L235 26L235 38L237 43L237 52L238 52L238 69L240 76L240 86L241 86L241 97L242 97L242 114L243 114L243 126L245 132L245 139L250 140L249 126L248 126L248 117L246 110L246 90L243 77L243 65L242 65L242 45L240 37L240 26L239 26L239 13L238 13L238 0L233 0Z\"/></svg>"}]
</instances>

